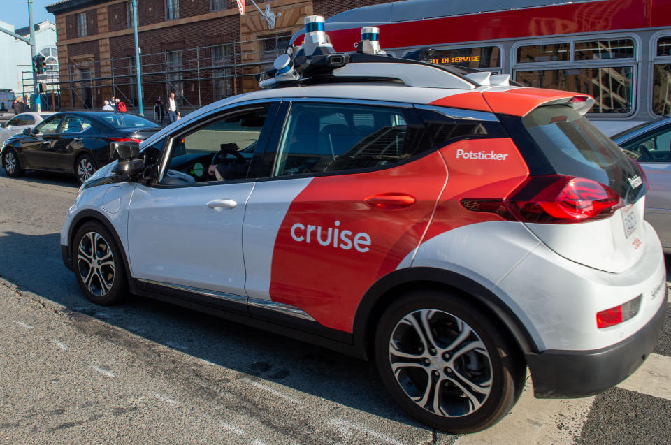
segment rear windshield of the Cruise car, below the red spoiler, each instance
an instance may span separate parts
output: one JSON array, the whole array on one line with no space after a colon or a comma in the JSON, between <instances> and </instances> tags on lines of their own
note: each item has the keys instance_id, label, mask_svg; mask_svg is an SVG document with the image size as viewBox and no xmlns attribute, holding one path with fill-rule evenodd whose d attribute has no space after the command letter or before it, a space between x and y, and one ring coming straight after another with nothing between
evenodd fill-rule
<instances>
[{"instance_id":1,"label":"rear windshield of the Cruise car, below the red spoiler","mask_svg":"<svg viewBox=\"0 0 671 445\"><path fill-rule=\"evenodd\" d=\"M557 174L605 184L626 203L644 194L637 164L573 108L539 107L524 116L522 124Z\"/></svg>"}]
</instances>

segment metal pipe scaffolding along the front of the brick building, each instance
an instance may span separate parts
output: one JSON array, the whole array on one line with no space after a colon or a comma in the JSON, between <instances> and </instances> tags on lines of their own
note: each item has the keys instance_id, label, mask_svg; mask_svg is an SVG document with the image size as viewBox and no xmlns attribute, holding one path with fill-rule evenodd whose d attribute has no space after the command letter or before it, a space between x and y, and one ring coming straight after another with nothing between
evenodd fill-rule
<instances>
[{"instance_id":1,"label":"metal pipe scaffolding along the front of the brick building","mask_svg":"<svg viewBox=\"0 0 671 445\"><path fill-rule=\"evenodd\" d=\"M289 36L277 35L241 41L140 55L145 101L152 110L160 96L175 92L183 112L241 92L258 89L253 76L272 68L284 53ZM99 110L103 100L116 96L137 112L135 57L76 61L61 60L60 78L53 78L56 104L68 110ZM56 73L57 75L58 73ZM151 116L151 115L149 115Z\"/></svg>"}]
</instances>

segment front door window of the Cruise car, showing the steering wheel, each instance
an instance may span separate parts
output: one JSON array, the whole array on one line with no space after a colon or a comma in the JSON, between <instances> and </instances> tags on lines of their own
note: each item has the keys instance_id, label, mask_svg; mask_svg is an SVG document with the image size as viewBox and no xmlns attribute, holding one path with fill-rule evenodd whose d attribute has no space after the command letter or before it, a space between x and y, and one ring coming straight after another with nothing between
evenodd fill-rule
<instances>
[{"instance_id":1,"label":"front door window of the Cruise car, showing the steering wheel","mask_svg":"<svg viewBox=\"0 0 671 445\"><path fill-rule=\"evenodd\" d=\"M246 177L267 117L267 108L246 110L173 138L168 171L186 173L196 182Z\"/></svg>"}]
</instances>

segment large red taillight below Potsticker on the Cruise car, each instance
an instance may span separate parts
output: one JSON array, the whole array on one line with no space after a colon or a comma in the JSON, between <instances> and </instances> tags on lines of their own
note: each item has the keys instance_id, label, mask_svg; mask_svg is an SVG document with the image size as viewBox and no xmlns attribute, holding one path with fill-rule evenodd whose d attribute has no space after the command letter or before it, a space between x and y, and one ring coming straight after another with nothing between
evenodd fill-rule
<instances>
[{"instance_id":1,"label":"large red taillight below Potsticker on the Cruise car","mask_svg":"<svg viewBox=\"0 0 671 445\"><path fill-rule=\"evenodd\" d=\"M463 199L475 212L492 212L522 222L570 224L607 218L623 206L610 187L582 177L531 176L503 199Z\"/></svg>"}]
</instances>

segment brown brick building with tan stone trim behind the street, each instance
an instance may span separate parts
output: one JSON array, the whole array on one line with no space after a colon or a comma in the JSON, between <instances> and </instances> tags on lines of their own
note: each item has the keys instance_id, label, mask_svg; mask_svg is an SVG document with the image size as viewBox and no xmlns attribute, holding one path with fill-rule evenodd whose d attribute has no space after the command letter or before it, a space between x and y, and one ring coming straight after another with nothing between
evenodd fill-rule
<instances>
[{"instance_id":1,"label":"brown brick building with tan stone trim behind the street","mask_svg":"<svg viewBox=\"0 0 671 445\"><path fill-rule=\"evenodd\" d=\"M270 6L275 27L250 1L137 0L143 105L178 94L182 107L199 108L257 89L253 75L272 64L306 15L331 15L387 0L258 0ZM56 17L61 104L101 108L112 95L136 105L131 1L62 0L47 6Z\"/></svg>"}]
</instances>

